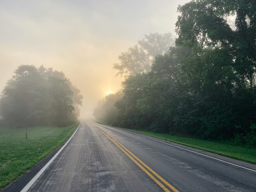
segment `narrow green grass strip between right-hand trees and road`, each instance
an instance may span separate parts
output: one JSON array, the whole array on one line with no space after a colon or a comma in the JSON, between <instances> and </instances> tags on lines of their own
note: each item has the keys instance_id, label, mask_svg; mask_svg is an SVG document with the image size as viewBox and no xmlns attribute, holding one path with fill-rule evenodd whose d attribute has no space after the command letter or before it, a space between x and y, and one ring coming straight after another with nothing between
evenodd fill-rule
<instances>
[{"instance_id":1,"label":"narrow green grass strip between right-hand trees and road","mask_svg":"<svg viewBox=\"0 0 256 192\"><path fill-rule=\"evenodd\" d=\"M98 122L98 123L107 125L102 122ZM125 128L121 128L121 129L125 129ZM196 149L206 150L206 151L220 154L226 157L231 157L234 159L239 159L242 161L256 164L256 149L233 145L230 142L200 140L200 139L194 139L194 138L179 137L175 135L152 133L150 131L140 131L140 130L130 130L130 129L125 129L125 130L133 131L136 133L142 133L144 135L149 135L151 137L160 138L160 139L174 142L177 144L194 147Z\"/></svg>"}]
</instances>

